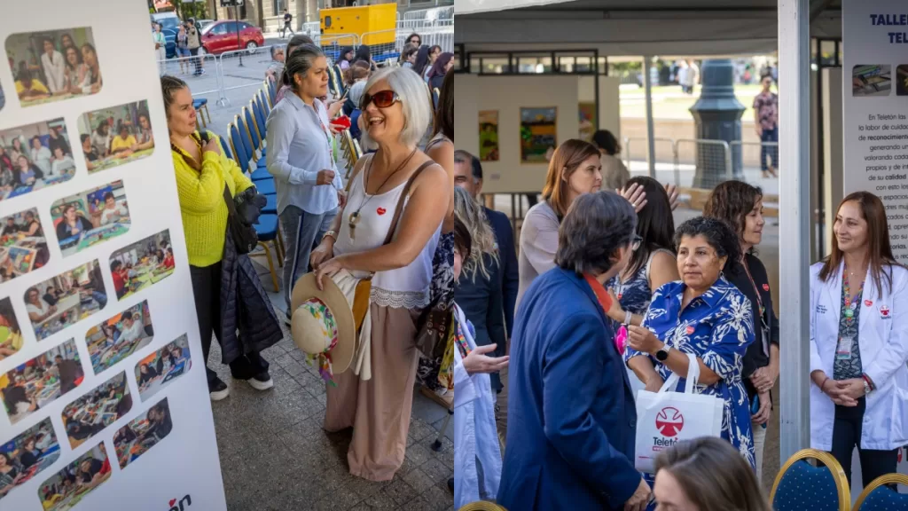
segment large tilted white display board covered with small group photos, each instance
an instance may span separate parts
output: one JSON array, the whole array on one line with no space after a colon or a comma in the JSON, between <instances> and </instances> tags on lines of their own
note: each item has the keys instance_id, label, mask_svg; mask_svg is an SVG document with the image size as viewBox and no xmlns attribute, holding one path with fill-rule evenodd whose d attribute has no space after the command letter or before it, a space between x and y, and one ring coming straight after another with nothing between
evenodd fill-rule
<instances>
[{"instance_id":1,"label":"large tilted white display board covered with small group photos","mask_svg":"<svg viewBox=\"0 0 908 511\"><path fill-rule=\"evenodd\" d=\"M225 510L147 6L3 10L0 511Z\"/></svg>"}]
</instances>

